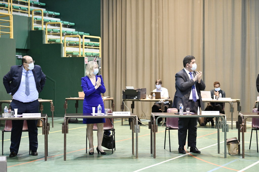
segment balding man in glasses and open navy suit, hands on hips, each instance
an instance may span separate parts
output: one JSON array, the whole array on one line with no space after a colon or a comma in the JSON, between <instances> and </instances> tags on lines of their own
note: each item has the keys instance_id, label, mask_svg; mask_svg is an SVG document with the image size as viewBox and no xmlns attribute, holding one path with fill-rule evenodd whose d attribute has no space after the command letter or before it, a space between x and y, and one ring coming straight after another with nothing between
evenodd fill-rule
<instances>
[{"instance_id":1,"label":"balding man in glasses and open navy suit, hands on hips","mask_svg":"<svg viewBox=\"0 0 259 172\"><path fill-rule=\"evenodd\" d=\"M34 65L30 56L22 58L22 65L12 66L4 76L3 83L8 94L11 94L11 109L18 109L18 114L39 112L39 93L42 91L46 76L39 65ZM27 120L31 155L38 155L37 120ZM9 157L18 153L23 120L12 120L11 146Z\"/></svg>"}]
</instances>

